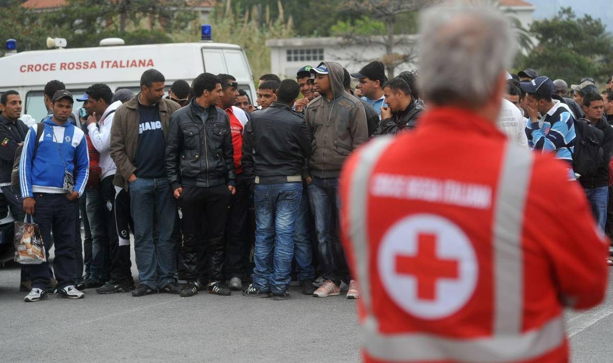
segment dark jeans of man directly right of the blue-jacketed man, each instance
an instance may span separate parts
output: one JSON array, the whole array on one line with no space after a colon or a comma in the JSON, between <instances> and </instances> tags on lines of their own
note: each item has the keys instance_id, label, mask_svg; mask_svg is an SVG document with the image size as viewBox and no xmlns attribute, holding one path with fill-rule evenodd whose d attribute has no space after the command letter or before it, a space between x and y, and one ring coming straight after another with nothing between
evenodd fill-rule
<instances>
[{"instance_id":1,"label":"dark jeans of man directly right of the blue-jacketed man","mask_svg":"<svg viewBox=\"0 0 613 363\"><path fill-rule=\"evenodd\" d=\"M87 218L91 231L91 266L89 279L109 281L109 233L105 214L106 202L99 188L87 188Z\"/></svg>"}]
</instances>

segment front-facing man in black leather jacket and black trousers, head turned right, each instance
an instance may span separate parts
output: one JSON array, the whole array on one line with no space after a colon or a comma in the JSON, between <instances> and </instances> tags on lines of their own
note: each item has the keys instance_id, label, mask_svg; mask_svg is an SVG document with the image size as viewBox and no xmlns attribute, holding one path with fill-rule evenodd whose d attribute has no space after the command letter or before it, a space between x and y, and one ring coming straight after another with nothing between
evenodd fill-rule
<instances>
[{"instance_id":1,"label":"front-facing man in black leather jacket and black trousers, head turned right","mask_svg":"<svg viewBox=\"0 0 613 363\"><path fill-rule=\"evenodd\" d=\"M224 232L230 196L235 193L234 151L230 122L224 110L215 107L221 97L221 81L210 73L194 80L194 98L172 114L166 139L166 172L178 200L185 259L185 285L181 296L194 296L197 282L198 233L200 225L207 243L208 292L228 296L221 282L224 262Z\"/></svg>"}]
</instances>

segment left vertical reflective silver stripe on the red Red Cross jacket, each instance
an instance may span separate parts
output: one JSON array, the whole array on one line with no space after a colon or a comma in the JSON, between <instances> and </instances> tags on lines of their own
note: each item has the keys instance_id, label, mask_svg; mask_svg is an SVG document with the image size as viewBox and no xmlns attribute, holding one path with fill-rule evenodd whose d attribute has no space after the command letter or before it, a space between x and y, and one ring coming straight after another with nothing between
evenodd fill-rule
<instances>
[{"instance_id":1,"label":"left vertical reflective silver stripe on the red Red Cross jacket","mask_svg":"<svg viewBox=\"0 0 613 363\"><path fill-rule=\"evenodd\" d=\"M362 290L362 305L370 313L370 280L368 280L368 243L366 212L368 210L368 178L370 177L375 161L381 156L392 137L378 137L369 142L360 153L356 169L349 181L349 201L345 205L349 208L349 237L356 258L357 278Z\"/></svg>"}]
</instances>

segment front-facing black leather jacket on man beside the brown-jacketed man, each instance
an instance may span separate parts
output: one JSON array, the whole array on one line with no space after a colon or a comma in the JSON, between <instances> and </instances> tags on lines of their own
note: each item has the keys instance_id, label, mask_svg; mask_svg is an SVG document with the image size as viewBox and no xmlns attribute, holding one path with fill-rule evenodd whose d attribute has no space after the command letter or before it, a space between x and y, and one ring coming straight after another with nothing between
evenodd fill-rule
<instances>
[{"instance_id":1,"label":"front-facing black leather jacket on man beside the brown-jacketed man","mask_svg":"<svg viewBox=\"0 0 613 363\"><path fill-rule=\"evenodd\" d=\"M166 174L172 190L182 185L235 185L230 121L224 110L209 107L202 122L196 99L170 116L166 137Z\"/></svg>"}]
</instances>

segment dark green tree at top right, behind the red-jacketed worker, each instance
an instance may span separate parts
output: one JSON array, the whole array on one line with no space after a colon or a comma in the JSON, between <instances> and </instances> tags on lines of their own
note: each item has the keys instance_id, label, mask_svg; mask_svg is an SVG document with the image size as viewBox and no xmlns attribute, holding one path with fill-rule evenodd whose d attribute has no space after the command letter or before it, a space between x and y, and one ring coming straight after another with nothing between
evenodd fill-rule
<instances>
[{"instance_id":1,"label":"dark green tree at top right, behind the red-jacketed worker","mask_svg":"<svg viewBox=\"0 0 613 363\"><path fill-rule=\"evenodd\" d=\"M534 68L539 74L568 83L582 77L603 82L611 76L613 41L600 19L589 15L577 18L568 7L552 19L535 21L530 33L538 45L520 57L518 69Z\"/></svg>"}]
</instances>

